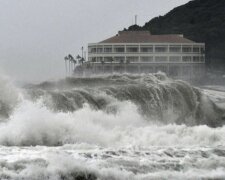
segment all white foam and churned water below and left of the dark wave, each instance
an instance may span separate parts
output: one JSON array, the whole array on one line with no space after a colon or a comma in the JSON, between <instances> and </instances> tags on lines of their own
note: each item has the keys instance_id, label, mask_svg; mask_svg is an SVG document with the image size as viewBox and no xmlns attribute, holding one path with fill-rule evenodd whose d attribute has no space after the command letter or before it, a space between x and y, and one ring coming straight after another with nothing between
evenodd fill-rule
<instances>
[{"instance_id":1,"label":"all white foam and churned water below and left of the dark wave","mask_svg":"<svg viewBox=\"0 0 225 180\"><path fill-rule=\"evenodd\" d=\"M116 98L114 113L89 104L53 111L44 96L30 100L3 80L0 89L10 107L0 123L0 179L225 178L225 126L156 123ZM201 101L213 116L213 104ZM173 122L176 114L168 113Z\"/></svg>"}]
</instances>

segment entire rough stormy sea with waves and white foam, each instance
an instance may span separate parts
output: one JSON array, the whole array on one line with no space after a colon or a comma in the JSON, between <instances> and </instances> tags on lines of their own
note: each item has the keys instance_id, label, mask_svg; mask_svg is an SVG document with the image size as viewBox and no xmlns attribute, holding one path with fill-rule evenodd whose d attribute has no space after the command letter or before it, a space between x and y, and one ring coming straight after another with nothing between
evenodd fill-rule
<instances>
[{"instance_id":1,"label":"entire rough stormy sea with waves and white foam","mask_svg":"<svg viewBox=\"0 0 225 180\"><path fill-rule=\"evenodd\" d=\"M224 124L224 87L163 73L0 77L0 179L225 179Z\"/></svg>"}]
</instances>

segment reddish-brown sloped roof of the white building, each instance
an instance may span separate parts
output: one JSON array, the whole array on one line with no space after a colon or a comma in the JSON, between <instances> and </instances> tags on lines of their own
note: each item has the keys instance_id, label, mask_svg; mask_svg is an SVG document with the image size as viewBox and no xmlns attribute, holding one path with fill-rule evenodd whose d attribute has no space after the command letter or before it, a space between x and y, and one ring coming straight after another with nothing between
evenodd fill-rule
<instances>
[{"instance_id":1,"label":"reddish-brown sloped roof of the white building","mask_svg":"<svg viewBox=\"0 0 225 180\"><path fill-rule=\"evenodd\" d=\"M149 31L119 31L100 43L194 43L180 34L152 35Z\"/></svg>"}]
</instances>

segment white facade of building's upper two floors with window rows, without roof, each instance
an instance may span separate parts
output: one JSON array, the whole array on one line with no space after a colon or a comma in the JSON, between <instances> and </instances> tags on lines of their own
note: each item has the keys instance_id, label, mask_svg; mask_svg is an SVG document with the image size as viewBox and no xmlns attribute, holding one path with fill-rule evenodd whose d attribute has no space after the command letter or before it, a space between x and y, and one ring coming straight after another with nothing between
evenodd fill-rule
<instances>
[{"instance_id":1,"label":"white facade of building's upper two floors with window rows, without roof","mask_svg":"<svg viewBox=\"0 0 225 180\"><path fill-rule=\"evenodd\" d=\"M204 43L91 43L91 63L205 63Z\"/></svg>"}]
</instances>

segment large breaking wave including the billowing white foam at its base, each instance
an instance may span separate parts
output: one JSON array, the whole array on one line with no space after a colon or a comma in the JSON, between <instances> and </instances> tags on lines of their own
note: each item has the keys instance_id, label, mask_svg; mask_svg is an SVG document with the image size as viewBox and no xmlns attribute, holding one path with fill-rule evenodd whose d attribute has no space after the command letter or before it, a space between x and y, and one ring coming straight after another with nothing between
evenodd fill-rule
<instances>
[{"instance_id":1,"label":"large breaking wave including the billowing white foam at its base","mask_svg":"<svg viewBox=\"0 0 225 180\"><path fill-rule=\"evenodd\" d=\"M163 74L67 78L29 85L15 100L4 100L1 145L207 146L225 137L224 127L205 126L223 125L224 110Z\"/></svg>"}]
</instances>

